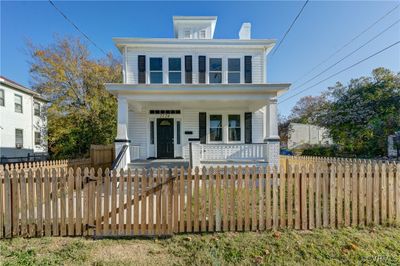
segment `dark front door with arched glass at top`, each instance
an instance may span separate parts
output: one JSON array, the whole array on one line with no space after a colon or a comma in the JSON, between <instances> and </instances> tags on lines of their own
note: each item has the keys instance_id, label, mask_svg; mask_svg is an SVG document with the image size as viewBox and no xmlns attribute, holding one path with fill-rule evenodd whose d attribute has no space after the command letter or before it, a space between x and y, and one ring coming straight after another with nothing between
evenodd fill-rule
<instances>
[{"instance_id":1,"label":"dark front door with arched glass at top","mask_svg":"<svg viewBox=\"0 0 400 266\"><path fill-rule=\"evenodd\" d=\"M157 157L174 158L174 119L157 119Z\"/></svg>"}]
</instances>

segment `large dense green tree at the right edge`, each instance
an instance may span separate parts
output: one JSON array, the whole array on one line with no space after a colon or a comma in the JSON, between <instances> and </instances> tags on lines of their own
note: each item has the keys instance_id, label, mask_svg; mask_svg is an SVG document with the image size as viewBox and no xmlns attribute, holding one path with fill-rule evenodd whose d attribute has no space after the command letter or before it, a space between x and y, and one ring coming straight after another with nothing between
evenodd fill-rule
<instances>
[{"instance_id":1,"label":"large dense green tree at the right edge","mask_svg":"<svg viewBox=\"0 0 400 266\"><path fill-rule=\"evenodd\" d=\"M346 154L386 155L388 135L400 130L400 73L377 68L372 77L337 83L317 120Z\"/></svg>"}]
</instances>

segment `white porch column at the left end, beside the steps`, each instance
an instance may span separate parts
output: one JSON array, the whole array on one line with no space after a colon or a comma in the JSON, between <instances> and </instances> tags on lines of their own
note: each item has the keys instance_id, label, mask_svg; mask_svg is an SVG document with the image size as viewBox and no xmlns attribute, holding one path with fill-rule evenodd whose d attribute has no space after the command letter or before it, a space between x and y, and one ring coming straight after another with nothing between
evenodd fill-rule
<instances>
[{"instance_id":1,"label":"white porch column at the left end, beside the steps","mask_svg":"<svg viewBox=\"0 0 400 266\"><path fill-rule=\"evenodd\" d=\"M119 164L117 166L117 169L126 169L128 163L131 161L129 153L129 143L131 141L128 139L128 101L125 97L118 97L117 117L117 137L114 141L115 158L117 159L124 146L128 145L125 154L120 155Z\"/></svg>"}]
</instances>

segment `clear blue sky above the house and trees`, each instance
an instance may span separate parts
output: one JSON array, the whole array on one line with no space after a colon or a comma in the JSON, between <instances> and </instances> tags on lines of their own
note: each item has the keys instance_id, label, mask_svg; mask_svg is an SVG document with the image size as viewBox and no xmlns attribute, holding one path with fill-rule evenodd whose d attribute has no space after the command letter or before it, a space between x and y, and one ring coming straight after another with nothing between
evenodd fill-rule
<instances>
[{"instance_id":1,"label":"clear blue sky above the house and trees","mask_svg":"<svg viewBox=\"0 0 400 266\"><path fill-rule=\"evenodd\" d=\"M214 38L237 39L243 22L252 24L252 38L281 40L304 1L54 1L86 35L106 52L118 55L112 37L173 37L172 16L218 16ZM400 7L355 39L330 60L332 53L400 4L400 1L313 1L303 10L279 49L267 57L267 81L292 83L278 99L280 114L287 116L303 96L319 95L337 81L370 75L376 67L400 71L400 44L332 78L330 75L400 40ZM32 85L26 42L49 45L55 36L82 35L48 1L1 0L0 74L25 86ZM378 38L301 86L324 69ZM104 55L89 44L94 58ZM307 74L309 73L309 74ZM307 74L307 75L306 75ZM320 83L313 86L316 83ZM312 88L309 88L313 86ZM304 92L302 90L306 89ZM297 93L300 94L296 95ZM288 99L289 98L289 99Z\"/></svg>"}]
</instances>

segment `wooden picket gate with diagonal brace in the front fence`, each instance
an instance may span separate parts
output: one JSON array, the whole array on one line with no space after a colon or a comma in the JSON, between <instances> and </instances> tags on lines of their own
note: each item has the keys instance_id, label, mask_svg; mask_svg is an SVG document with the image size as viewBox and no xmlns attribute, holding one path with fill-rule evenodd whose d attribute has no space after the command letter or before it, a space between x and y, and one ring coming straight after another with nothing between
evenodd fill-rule
<instances>
[{"instance_id":1,"label":"wooden picket gate with diagonal brace in the front fence","mask_svg":"<svg viewBox=\"0 0 400 266\"><path fill-rule=\"evenodd\" d=\"M93 237L173 233L173 180L168 169L90 173L84 188L85 234ZM84 223L85 224L85 223Z\"/></svg>"}]
</instances>

